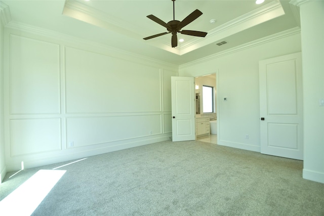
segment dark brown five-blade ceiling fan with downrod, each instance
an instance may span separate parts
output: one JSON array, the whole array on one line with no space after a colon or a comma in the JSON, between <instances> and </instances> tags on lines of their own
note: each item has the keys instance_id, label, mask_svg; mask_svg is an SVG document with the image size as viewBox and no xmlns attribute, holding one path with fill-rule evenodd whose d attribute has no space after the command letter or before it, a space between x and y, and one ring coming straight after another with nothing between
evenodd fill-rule
<instances>
[{"instance_id":1,"label":"dark brown five-blade ceiling fan with downrod","mask_svg":"<svg viewBox=\"0 0 324 216\"><path fill-rule=\"evenodd\" d=\"M177 47L178 46L178 37L177 37L177 32L181 33L181 34L187 34L187 35L192 35L192 36L197 36L197 37L205 37L207 35L207 32L203 32L203 31L192 31L192 30L182 30L181 29L183 27L185 27L186 25L188 25L189 23L191 23L192 21L194 21L195 19L197 19L201 14L198 9L196 9L194 12L192 12L191 14L189 14L186 18L184 18L181 22L178 20L175 20L175 16L174 16L174 2L176 0L171 0L173 2L173 20L171 20L168 23L165 23L164 21L158 19L157 17L155 17L154 15L148 15L146 16L147 18L153 20L154 22L164 26L167 28L168 32L163 32L163 33L159 33L159 34L154 34L152 36L149 37L145 37L143 38L144 40L148 40L154 37L158 37L161 35L165 35L165 34L169 34L172 33L172 38L171 38L171 46L172 47Z\"/></svg>"}]
</instances>

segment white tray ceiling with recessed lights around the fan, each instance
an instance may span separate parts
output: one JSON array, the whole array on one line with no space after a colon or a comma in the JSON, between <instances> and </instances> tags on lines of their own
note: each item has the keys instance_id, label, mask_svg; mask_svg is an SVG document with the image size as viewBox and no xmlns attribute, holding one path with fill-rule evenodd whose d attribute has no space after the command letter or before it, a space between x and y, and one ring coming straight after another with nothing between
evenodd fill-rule
<instances>
[{"instance_id":1,"label":"white tray ceiling with recessed lights around the fan","mask_svg":"<svg viewBox=\"0 0 324 216\"><path fill-rule=\"evenodd\" d=\"M173 20L171 0L11 0L1 1L10 10L8 26L28 25L93 40L113 48L181 65L247 42L299 26L298 9L289 1L255 0L175 1L175 19L182 21L195 9L203 15L184 27L208 32L206 37L178 33L178 47L171 48L171 34L148 19ZM215 19L214 24L210 23ZM217 46L219 41L228 43Z\"/></svg>"}]
</instances>

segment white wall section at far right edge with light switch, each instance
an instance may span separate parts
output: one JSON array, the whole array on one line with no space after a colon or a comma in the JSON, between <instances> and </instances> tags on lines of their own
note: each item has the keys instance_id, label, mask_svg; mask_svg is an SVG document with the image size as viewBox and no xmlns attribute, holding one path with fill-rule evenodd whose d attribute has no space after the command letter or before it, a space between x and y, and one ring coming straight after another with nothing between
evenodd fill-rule
<instances>
[{"instance_id":1,"label":"white wall section at far right edge with light switch","mask_svg":"<svg viewBox=\"0 0 324 216\"><path fill-rule=\"evenodd\" d=\"M300 16L304 89L303 178L324 183L324 106L319 106L319 101L324 100L324 2L301 4Z\"/></svg>"}]
</instances>

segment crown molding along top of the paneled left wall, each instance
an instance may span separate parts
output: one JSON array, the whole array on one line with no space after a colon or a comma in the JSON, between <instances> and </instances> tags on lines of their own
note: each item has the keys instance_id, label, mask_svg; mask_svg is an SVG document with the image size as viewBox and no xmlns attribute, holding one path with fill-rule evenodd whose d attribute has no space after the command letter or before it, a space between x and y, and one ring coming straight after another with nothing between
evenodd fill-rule
<instances>
[{"instance_id":1,"label":"crown molding along top of the paneled left wall","mask_svg":"<svg viewBox=\"0 0 324 216\"><path fill-rule=\"evenodd\" d=\"M128 52L125 50L117 49L114 47L110 47L107 45L100 44L99 42L91 41L82 39L79 37L75 37L68 34L63 34L57 31L52 31L48 29L43 29L35 26L31 26L25 23L20 23L16 21L11 21L6 28L13 29L18 32L27 32L30 34L43 36L47 38L51 38L53 41L55 41L57 44L66 46L66 47L74 47L78 49L87 50L85 48L89 48L91 50L97 50L98 53L112 56L119 59L134 61L134 62L143 62L145 64L158 64L158 65L164 65L165 69L171 69L171 70L178 70L178 65L171 64L169 62L160 61L154 58L142 56L136 53ZM21 35L20 33L12 33L16 35ZM21 35L24 36L24 35ZM38 38L36 38L38 39ZM81 45L81 46L80 46ZM84 48L80 48L84 47Z\"/></svg>"}]
</instances>

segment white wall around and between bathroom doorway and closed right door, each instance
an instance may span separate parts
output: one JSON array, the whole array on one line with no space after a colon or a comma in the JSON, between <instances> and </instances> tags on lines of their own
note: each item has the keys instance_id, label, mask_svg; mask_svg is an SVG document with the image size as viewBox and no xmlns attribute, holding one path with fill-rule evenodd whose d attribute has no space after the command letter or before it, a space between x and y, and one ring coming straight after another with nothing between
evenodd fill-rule
<instances>
[{"instance_id":1,"label":"white wall around and between bathroom doorway and closed right door","mask_svg":"<svg viewBox=\"0 0 324 216\"><path fill-rule=\"evenodd\" d=\"M219 145L260 152L259 61L300 51L291 30L180 66L179 76L217 74Z\"/></svg>"}]
</instances>

